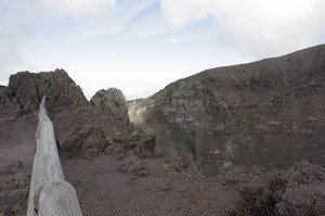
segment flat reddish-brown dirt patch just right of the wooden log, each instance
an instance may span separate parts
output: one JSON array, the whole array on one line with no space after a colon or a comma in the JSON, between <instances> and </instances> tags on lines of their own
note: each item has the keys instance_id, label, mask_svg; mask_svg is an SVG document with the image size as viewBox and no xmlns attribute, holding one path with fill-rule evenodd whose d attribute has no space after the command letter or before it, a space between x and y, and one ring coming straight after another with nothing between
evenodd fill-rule
<instances>
[{"instance_id":1,"label":"flat reddish-brown dirt patch just right of the wooden log","mask_svg":"<svg viewBox=\"0 0 325 216\"><path fill-rule=\"evenodd\" d=\"M172 170L162 158L145 163L145 177L121 173L112 156L63 160L63 168L84 215L224 215L238 198L234 189Z\"/></svg>"}]
</instances>

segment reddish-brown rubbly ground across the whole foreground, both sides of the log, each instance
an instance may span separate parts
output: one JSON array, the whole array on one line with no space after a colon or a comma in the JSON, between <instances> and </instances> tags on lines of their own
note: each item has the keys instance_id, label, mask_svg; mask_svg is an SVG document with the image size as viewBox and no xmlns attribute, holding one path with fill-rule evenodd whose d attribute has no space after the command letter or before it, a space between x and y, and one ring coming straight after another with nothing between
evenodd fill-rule
<instances>
[{"instance_id":1,"label":"reddish-brown rubbly ground across the whole foreground, both sides of the log","mask_svg":"<svg viewBox=\"0 0 325 216\"><path fill-rule=\"evenodd\" d=\"M56 116L56 123L60 119ZM34 114L0 118L0 216L26 215L36 127ZM69 137L67 128L56 130L58 140ZM115 151L119 145L115 143L108 154L105 150L87 158L60 150L65 178L75 187L83 215L325 214L322 166L302 162L275 171L234 167L197 179L183 160L145 152L152 147L145 143L128 151L126 143Z\"/></svg>"}]
</instances>

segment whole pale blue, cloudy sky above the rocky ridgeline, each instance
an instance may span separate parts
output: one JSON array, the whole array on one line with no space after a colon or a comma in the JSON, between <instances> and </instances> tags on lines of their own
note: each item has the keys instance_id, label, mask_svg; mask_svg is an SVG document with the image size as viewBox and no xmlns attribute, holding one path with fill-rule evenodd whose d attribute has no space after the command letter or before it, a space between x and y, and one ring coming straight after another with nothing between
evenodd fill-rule
<instances>
[{"instance_id":1,"label":"whole pale blue, cloudy sky above the rocky ridgeline","mask_svg":"<svg viewBox=\"0 0 325 216\"><path fill-rule=\"evenodd\" d=\"M90 99L325 42L324 0L0 0L0 85L64 68Z\"/></svg>"}]
</instances>

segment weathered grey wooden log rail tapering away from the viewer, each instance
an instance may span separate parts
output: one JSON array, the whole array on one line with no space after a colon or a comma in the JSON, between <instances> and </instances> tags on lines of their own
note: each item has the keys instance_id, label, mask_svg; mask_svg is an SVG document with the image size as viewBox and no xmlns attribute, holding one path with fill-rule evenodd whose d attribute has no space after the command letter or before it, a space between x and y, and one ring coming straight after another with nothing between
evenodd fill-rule
<instances>
[{"instance_id":1,"label":"weathered grey wooden log rail tapering away from the viewer","mask_svg":"<svg viewBox=\"0 0 325 216\"><path fill-rule=\"evenodd\" d=\"M27 216L82 216L76 191L64 179L46 97L39 109Z\"/></svg>"}]
</instances>

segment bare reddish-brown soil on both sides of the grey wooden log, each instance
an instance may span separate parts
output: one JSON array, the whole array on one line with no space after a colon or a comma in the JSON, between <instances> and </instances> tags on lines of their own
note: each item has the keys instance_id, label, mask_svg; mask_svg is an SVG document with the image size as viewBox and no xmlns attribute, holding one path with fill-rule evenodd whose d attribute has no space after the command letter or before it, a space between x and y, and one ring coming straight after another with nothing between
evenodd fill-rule
<instances>
[{"instance_id":1,"label":"bare reddish-brown soil on both sides of the grey wooden log","mask_svg":"<svg viewBox=\"0 0 325 216\"><path fill-rule=\"evenodd\" d=\"M1 211L4 215L25 215L37 122L1 119ZM75 187L83 215L226 215L238 199L236 189L177 170L177 160L168 156L140 160L130 155L116 160L103 155L80 160L73 158L69 152L60 154L66 180ZM17 162L23 166L15 165ZM11 183L17 174L21 177L16 181L25 183Z\"/></svg>"}]
</instances>

